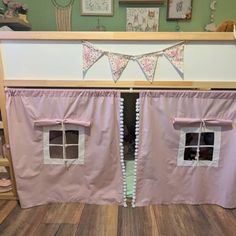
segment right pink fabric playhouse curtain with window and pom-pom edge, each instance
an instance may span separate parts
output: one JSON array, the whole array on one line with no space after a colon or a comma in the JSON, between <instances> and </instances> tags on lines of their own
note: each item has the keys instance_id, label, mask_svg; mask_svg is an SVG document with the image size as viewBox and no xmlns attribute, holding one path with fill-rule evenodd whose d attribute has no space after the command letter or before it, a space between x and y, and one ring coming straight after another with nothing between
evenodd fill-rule
<instances>
[{"instance_id":1,"label":"right pink fabric playhouse curtain with window and pom-pom edge","mask_svg":"<svg viewBox=\"0 0 236 236\"><path fill-rule=\"evenodd\" d=\"M142 91L133 206L236 207L236 93Z\"/></svg>"}]
</instances>

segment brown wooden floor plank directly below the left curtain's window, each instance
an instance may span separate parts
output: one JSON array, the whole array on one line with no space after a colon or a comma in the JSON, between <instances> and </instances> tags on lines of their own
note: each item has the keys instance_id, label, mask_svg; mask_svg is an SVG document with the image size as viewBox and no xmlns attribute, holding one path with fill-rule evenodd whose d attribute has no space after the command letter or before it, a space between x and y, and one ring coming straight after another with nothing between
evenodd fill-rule
<instances>
[{"instance_id":1,"label":"brown wooden floor plank directly below the left curtain's window","mask_svg":"<svg viewBox=\"0 0 236 236\"><path fill-rule=\"evenodd\" d=\"M84 204L53 203L49 205L44 223L79 224Z\"/></svg>"}]
</instances>

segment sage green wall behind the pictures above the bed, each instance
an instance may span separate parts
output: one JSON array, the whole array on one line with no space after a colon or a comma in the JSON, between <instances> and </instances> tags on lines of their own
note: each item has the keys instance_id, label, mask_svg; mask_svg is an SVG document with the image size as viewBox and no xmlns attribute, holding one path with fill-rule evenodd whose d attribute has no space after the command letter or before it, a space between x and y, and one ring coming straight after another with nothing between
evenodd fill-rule
<instances>
[{"instance_id":1,"label":"sage green wall behind the pictures above the bed","mask_svg":"<svg viewBox=\"0 0 236 236\"><path fill-rule=\"evenodd\" d=\"M29 7L28 19L35 31L55 31L55 12L51 0L19 0ZM69 0L57 0L66 4ZM193 0L193 14L191 21L180 22L181 31L204 31L204 26L210 21L210 0ZM126 8L144 7L144 5L119 5L114 0L114 16L99 17L100 23L107 31L125 31ZM166 4L164 6L148 5L148 7L160 7L159 31L175 31L176 22L166 21ZM81 16L80 0L74 0L72 11L72 30L91 31L97 25L97 16ZM215 22L227 19L236 20L236 0L217 0Z\"/></svg>"}]
</instances>

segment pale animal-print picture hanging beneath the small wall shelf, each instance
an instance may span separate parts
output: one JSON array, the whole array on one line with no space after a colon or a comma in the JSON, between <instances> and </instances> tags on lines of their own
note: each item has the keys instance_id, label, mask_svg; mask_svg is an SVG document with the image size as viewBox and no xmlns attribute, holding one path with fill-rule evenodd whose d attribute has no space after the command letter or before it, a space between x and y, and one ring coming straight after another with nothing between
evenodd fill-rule
<instances>
[{"instance_id":1,"label":"pale animal-print picture hanging beneath the small wall shelf","mask_svg":"<svg viewBox=\"0 0 236 236\"><path fill-rule=\"evenodd\" d=\"M159 27L159 8L127 8L126 31L156 32Z\"/></svg>"}]
</instances>

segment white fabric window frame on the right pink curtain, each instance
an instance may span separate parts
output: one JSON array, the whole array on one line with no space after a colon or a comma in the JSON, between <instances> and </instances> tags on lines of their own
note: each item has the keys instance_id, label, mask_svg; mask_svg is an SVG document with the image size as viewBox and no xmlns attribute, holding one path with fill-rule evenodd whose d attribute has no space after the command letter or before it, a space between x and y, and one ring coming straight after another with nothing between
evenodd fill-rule
<instances>
[{"instance_id":1,"label":"white fabric window frame on the right pink curtain","mask_svg":"<svg viewBox=\"0 0 236 236\"><path fill-rule=\"evenodd\" d=\"M197 147L198 145L186 146L186 134L187 133L214 133L214 144L213 145L199 145L199 147L213 147L213 157L211 161L203 160L184 160L185 148ZM198 140L199 142L199 140ZM180 130L180 142L178 150L177 166L211 166L218 167L219 155L220 155L220 144L221 144L221 127L220 126L209 126L209 127L182 127Z\"/></svg>"}]
</instances>

